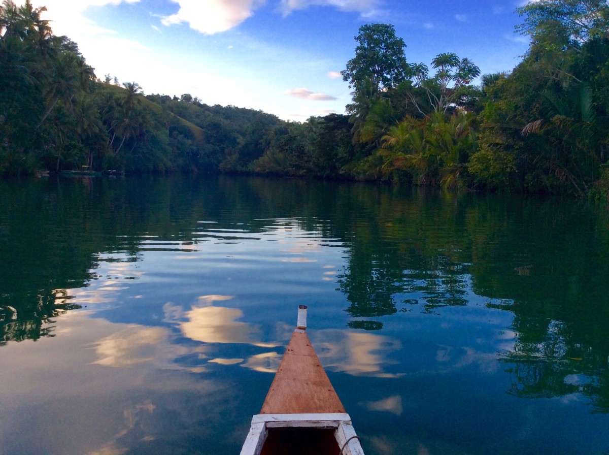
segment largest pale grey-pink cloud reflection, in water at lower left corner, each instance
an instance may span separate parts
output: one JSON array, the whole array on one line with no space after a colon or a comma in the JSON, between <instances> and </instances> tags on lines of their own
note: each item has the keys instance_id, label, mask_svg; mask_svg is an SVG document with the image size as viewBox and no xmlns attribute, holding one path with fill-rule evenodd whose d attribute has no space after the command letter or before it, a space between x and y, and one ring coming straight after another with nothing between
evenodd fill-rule
<instances>
[{"instance_id":1,"label":"largest pale grey-pink cloud reflection, in water at lower left corner","mask_svg":"<svg viewBox=\"0 0 609 455\"><path fill-rule=\"evenodd\" d=\"M0 452L21 453L28 440L29 453L162 453L180 434L238 428L226 415L234 387L177 361L202 347L175 344L165 328L90 316L67 312L54 323L69 336L0 350L0 382L19 378L0 387Z\"/></svg>"}]
</instances>

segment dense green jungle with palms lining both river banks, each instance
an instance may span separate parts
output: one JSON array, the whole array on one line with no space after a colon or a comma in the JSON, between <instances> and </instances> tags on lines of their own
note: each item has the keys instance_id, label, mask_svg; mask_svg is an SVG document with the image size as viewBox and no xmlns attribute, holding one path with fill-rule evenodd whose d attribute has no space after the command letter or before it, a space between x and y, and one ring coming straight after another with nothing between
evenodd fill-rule
<instances>
[{"instance_id":1,"label":"dense green jungle with palms lining both river banks","mask_svg":"<svg viewBox=\"0 0 609 455\"><path fill-rule=\"evenodd\" d=\"M0 7L0 175L247 172L609 199L604 0L519 7L526 55L482 76L451 52L409 63L393 26L362 26L347 115L303 123L98 79L44 10Z\"/></svg>"}]
</instances>

